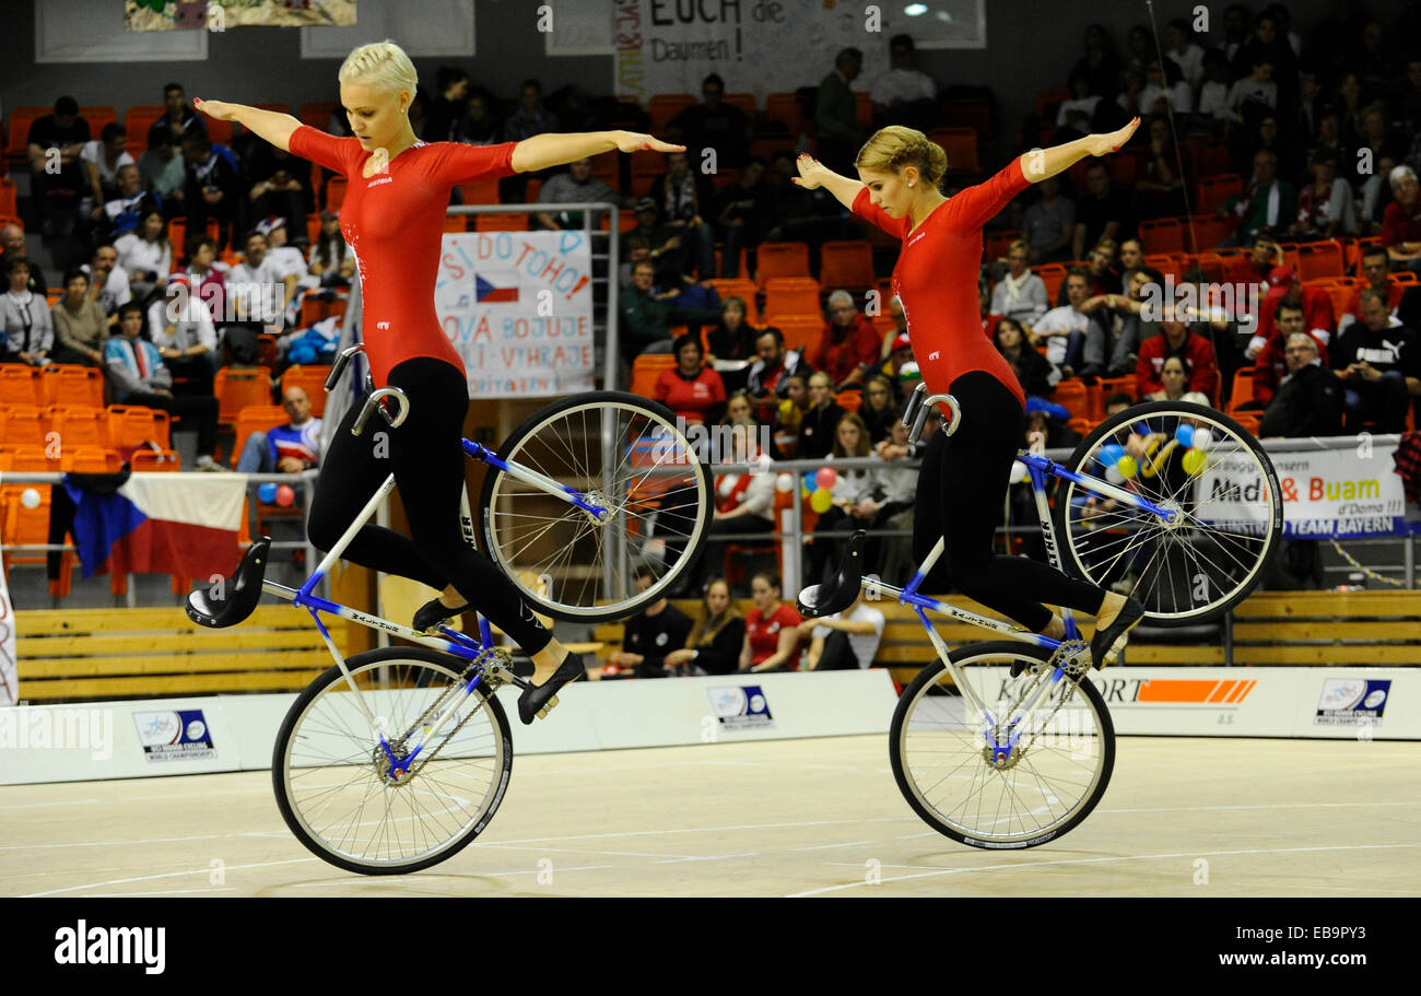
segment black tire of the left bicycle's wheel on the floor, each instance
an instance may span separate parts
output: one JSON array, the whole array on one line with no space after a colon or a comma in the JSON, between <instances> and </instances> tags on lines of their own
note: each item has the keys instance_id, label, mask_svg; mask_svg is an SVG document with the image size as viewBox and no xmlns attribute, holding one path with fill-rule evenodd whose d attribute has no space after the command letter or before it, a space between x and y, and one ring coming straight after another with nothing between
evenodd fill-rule
<instances>
[{"instance_id":1,"label":"black tire of the left bicycle's wheel on the floor","mask_svg":"<svg viewBox=\"0 0 1421 996\"><path fill-rule=\"evenodd\" d=\"M374 668L388 664L391 661L418 664L421 668L428 669L428 672L431 672L429 673L431 679L456 679L459 678L459 675L463 672L465 668L463 661L459 661L458 658L452 658L446 654L439 654L436 651L426 649L422 646L385 646L374 651L367 651L364 654L357 654L355 656L350 658L345 666L350 669L354 678L360 678L361 675L371 672ZM422 688L418 683L418 681L414 681L412 685L415 689ZM452 858L455 854L468 847L475 837L483 833L483 828L487 827L489 820L493 818L493 814L497 811L499 804L503 801L504 791L507 790L509 786L509 776L513 770L513 735L509 727L509 718L503 712L503 706L499 705L497 698L485 695L482 688L475 689L469 698L476 699L473 710L482 710L492 727L487 739L489 739L489 746L493 752L495 763L490 770L489 787L485 790L480 804L469 818L463 820L462 826L458 827L456 833L450 834L448 840L438 841L435 847L428 850L428 852L415 854L405 860L374 861L374 860L358 860L357 855L351 854L348 848L342 850L341 847L328 841L318 830L315 830L311 826L311 818L308 818L308 814L306 813L306 801L296 799L297 791L293 787L294 779L293 779L291 756L298 742L303 742L304 746L311 752L317 750L317 747L314 746L315 742L320 742L323 747L330 746L328 742L333 733L321 730L314 723L314 720L308 722L308 718L311 718L313 709L320 702L321 696L327 691L333 689L333 686L345 686L345 675L335 665L324 671L314 682L311 682L306 688L306 691L303 691L297 696L296 702L291 703L291 708L287 710L286 718L281 720L281 726L277 730L276 745L273 746L271 752L271 783L273 789L276 790L277 808L281 811L281 818L286 820L286 826L291 830L296 838L301 841L301 844L308 851L311 851L311 854L321 858L323 861L327 861L328 864L335 865L337 868L360 872L362 875L404 875L414 871L421 871L423 868L429 868L431 865ZM345 730L338 730L335 726L331 726L330 730L334 730L335 733L340 732L350 733L352 740L358 740L360 737L355 735L355 729L360 729L360 725L362 725L365 720L358 713L352 715L358 720L354 725L354 729L350 725L347 725ZM340 769L342 774L348 774L351 772L357 772L361 767L368 767L372 780L377 783L375 787L378 789L381 787L381 784L378 774L375 773L375 763L372 759L365 757L365 750L368 749L368 746L372 745L374 745L374 737L369 737L369 745L364 745L358 747L355 753L347 756L354 763L341 764ZM357 762L355 759L360 760ZM452 757L446 759L446 763L449 760L453 759ZM330 766L330 767L334 769L337 766ZM385 793L415 791L415 786L421 779L425 779L423 773L415 776L415 779L412 779L402 787L384 786L384 791ZM429 776L429 783L431 784L423 787L423 791L442 796L446 800L450 797L449 790L445 789L433 774ZM352 784L354 781L347 783L347 786ZM347 786L338 786L338 789ZM460 784L459 789L465 789L465 786ZM318 793L318 794L330 796L334 791L335 789L331 789L325 793ZM358 801L360 814L364 814L372 793L374 790L367 787L367 796ZM333 801L331 799L325 799L323 800L321 804L330 806L331 801ZM384 801L385 801L385 811L388 816L391 811L391 800L387 796ZM358 828L362 824L357 823L354 828ZM348 833L350 831L347 831L347 835ZM398 843L398 834L395 840Z\"/></svg>"}]
</instances>

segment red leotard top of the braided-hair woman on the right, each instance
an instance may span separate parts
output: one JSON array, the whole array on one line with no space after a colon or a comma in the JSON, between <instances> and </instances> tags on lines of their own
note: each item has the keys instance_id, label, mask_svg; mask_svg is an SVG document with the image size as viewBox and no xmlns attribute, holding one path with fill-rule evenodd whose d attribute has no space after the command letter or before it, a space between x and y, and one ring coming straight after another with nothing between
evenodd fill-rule
<instances>
[{"instance_id":1,"label":"red leotard top of the braided-hair woman on the right","mask_svg":"<svg viewBox=\"0 0 1421 996\"><path fill-rule=\"evenodd\" d=\"M890 217L871 205L867 186L854 197L855 215L905 240L892 271L892 288L908 320L912 357L932 394L946 394L956 378L980 369L1026 408L1016 375L982 334L978 271L982 226L1027 186L1022 161L1015 159L985 183L938 205L911 236L912 219Z\"/></svg>"}]
</instances>

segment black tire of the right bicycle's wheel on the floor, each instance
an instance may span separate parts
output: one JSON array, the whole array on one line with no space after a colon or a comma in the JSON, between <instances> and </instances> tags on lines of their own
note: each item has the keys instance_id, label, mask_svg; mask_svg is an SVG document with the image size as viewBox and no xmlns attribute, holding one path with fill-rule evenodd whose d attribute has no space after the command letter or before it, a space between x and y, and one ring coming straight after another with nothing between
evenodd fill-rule
<instances>
[{"instance_id":1,"label":"black tire of the right bicycle's wheel on the floor","mask_svg":"<svg viewBox=\"0 0 1421 996\"><path fill-rule=\"evenodd\" d=\"M1044 664L1050 658L1050 651L1042 649L1039 646L1026 642L993 641L993 642L969 644L966 646L961 646L952 651L948 656L952 659L953 664L962 665L966 673L971 675L973 666L980 666L980 665L972 665L971 662L973 659L979 658L989 659L993 665L1006 664L1010 662L1012 659L1025 662L1027 665L1037 665L1037 664ZM914 813L917 813L924 823L926 823L929 827L936 830L944 837L949 837L958 841L959 844L966 844L969 847L979 847L986 850L1023 850L1027 847L1040 847L1042 844L1053 841L1079 827L1080 823L1087 816L1090 816L1091 810L1096 808L1101 797L1106 794L1106 789L1110 786L1110 776L1115 767L1115 727L1110 719L1110 710L1106 708L1104 698L1101 698L1100 691L1090 682L1090 679L1081 681L1080 685L1076 686L1076 691L1071 693L1071 696L1074 696L1074 693L1079 692L1084 698L1084 702L1087 703L1090 713L1094 716L1093 722L1098 729L1098 737L1100 737L1098 763L1096 764L1096 769L1091 773L1091 783L1088 786L1088 791L1084 794L1081 800L1076 801L1071 806L1071 808L1064 814L1063 818L1056 820L1052 824L1047 824L1044 827L1036 827L1034 831L1023 830L1022 833L1017 834L1000 834L998 837L992 837L983 833L973 833L973 830L969 826L949 818L948 814L945 814L938 806L932 803L932 800L928 799L931 789L921 787L918 784L919 777L915 776L915 764L912 763L912 760L914 757L918 757L921 753L925 752L919 752L917 745L914 745L914 747L908 746L908 737L914 726L912 723L914 715L918 712L922 700L925 698L931 698L934 689L939 688L939 682L945 675L946 675L946 665L944 665L941 659L934 661L926 668L919 671L917 678L914 678L912 682L908 685L908 688L904 689L902 695L898 696L898 706L894 709L892 723L890 726L888 756L890 760L892 762L894 779L898 783L898 790L902 793L902 797L908 801L908 806L912 807ZM961 699L961 696L956 698ZM975 727L973 723L966 722L965 713L962 726L963 726L963 735L966 735L969 726ZM972 747L972 750L976 749L978 749L976 746ZM946 753L946 752L938 750L928 753ZM968 763L971 762L965 759L963 764L961 764L958 769L953 769L952 773L945 774L938 781L938 784L949 779L966 777L956 774L956 772L959 772L962 766ZM988 764L985 759L976 757L975 763L980 764L980 767L985 769L986 779L992 779L996 776L1000 776L1003 779L1007 777L1006 772L993 769L990 764ZM1012 770L1015 772L1015 767ZM1036 786L1042 789L1042 791L1044 793L1046 791L1044 786L1049 783L1044 783L1043 779L1039 776L1039 773L1036 773L1034 770L1033 776L1036 779ZM925 777L926 776L922 776L924 780ZM986 779L983 780L982 787L973 794L979 796L988 794ZM1016 789L1010 789L1009 794L1013 799L1020 799L1020 793ZM1059 801L1059 797L1054 796L1049 796L1047 799L1050 801ZM1002 821L1000 806L1002 803L999 800L998 810L993 813L993 816L996 817L995 820L996 823Z\"/></svg>"}]
</instances>

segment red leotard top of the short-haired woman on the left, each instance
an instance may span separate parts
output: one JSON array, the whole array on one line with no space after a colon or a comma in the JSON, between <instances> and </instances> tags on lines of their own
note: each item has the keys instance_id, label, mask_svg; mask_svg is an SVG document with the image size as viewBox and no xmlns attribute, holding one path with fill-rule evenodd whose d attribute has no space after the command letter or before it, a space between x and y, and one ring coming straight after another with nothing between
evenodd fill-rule
<instances>
[{"instance_id":1,"label":"red leotard top of the short-haired woman on the left","mask_svg":"<svg viewBox=\"0 0 1421 996\"><path fill-rule=\"evenodd\" d=\"M291 132L293 155L350 182L341 234L360 269L365 357L375 386L385 386L389 371L414 357L463 369L435 314L445 209L455 183L510 176L514 145L415 142L389 161L387 172L362 176L371 153L358 138L337 138L310 125Z\"/></svg>"}]
</instances>

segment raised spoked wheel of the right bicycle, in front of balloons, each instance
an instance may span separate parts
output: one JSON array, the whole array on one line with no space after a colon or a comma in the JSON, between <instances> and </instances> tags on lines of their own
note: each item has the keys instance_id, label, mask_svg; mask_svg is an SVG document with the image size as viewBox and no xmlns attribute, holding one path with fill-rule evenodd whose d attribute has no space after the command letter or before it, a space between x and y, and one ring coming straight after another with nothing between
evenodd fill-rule
<instances>
[{"instance_id":1,"label":"raised spoked wheel of the right bicycle, in front of balloons","mask_svg":"<svg viewBox=\"0 0 1421 996\"><path fill-rule=\"evenodd\" d=\"M1162 627L1211 622L1242 601L1282 546L1283 496L1273 462L1222 412L1188 402L1135 405L1101 422L1067 462L1053 519L1076 577L1133 595ZM1104 477L1167 521L1103 496Z\"/></svg>"}]
</instances>

